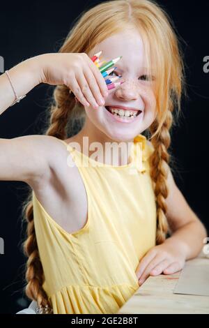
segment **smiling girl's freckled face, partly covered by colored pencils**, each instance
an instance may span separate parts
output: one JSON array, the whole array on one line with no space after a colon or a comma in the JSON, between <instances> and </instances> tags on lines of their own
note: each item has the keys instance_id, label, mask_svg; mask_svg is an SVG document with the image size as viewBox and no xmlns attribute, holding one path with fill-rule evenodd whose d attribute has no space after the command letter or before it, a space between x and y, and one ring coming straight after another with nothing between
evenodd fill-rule
<instances>
[{"instance_id":1,"label":"smiling girl's freckled face, partly covered by colored pencils","mask_svg":"<svg viewBox=\"0 0 209 328\"><path fill-rule=\"evenodd\" d=\"M116 63L117 69L111 76L122 75L119 81L125 82L109 91L104 106L98 109L85 107L88 126L91 129L100 130L111 140L133 140L136 135L146 130L156 117L155 94L150 84L152 77L145 75L145 54L141 36L134 29L115 34L96 45L88 56L93 57L101 50L100 60L102 61L110 61L123 56ZM133 107L142 112L128 122L122 122L107 111L105 106L109 105Z\"/></svg>"}]
</instances>

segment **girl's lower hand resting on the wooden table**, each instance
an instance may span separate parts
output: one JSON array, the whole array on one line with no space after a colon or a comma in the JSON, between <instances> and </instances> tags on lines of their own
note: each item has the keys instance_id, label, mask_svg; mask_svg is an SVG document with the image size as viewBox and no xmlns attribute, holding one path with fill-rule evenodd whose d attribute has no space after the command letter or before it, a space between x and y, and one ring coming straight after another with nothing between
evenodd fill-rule
<instances>
[{"instance_id":1,"label":"girl's lower hand resting on the wooden table","mask_svg":"<svg viewBox=\"0 0 209 328\"><path fill-rule=\"evenodd\" d=\"M168 239L167 239L168 240ZM159 274L173 274L183 269L186 256L176 243L167 243L155 246L146 253L140 261L136 274L139 285L146 281L148 276Z\"/></svg>"}]
</instances>

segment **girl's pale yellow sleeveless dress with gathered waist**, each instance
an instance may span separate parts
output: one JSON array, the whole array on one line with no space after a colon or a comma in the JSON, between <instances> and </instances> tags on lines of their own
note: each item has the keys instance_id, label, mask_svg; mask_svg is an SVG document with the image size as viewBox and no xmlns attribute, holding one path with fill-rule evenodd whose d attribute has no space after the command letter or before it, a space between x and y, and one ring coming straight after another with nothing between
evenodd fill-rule
<instances>
[{"instance_id":1,"label":"girl's pale yellow sleeveless dress with gathered waist","mask_svg":"<svg viewBox=\"0 0 209 328\"><path fill-rule=\"evenodd\" d=\"M137 135L130 163L101 166L60 141L84 182L88 220L80 230L66 232L33 191L34 225L45 274L42 287L54 314L117 313L139 288L135 271L155 246L155 194L148 164L153 147L144 135Z\"/></svg>"}]
</instances>

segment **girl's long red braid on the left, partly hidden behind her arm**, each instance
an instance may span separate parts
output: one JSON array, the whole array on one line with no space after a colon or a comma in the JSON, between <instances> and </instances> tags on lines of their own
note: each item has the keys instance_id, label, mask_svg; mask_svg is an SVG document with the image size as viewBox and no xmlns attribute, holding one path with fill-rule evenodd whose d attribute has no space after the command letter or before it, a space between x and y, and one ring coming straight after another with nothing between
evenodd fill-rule
<instances>
[{"instance_id":1,"label":"girl's long red braid on the left, partly hidden behind her arm","mask_svg":"<svg viewBox=\"0 0 209 328\"><path fill-rule=\"evenodd\" d=\"M69 113L75 106L73 94L69 93L69 89L65 86L57 86L54 89L55 103L51 105L50 124L46 131L46 135L52 135L61 139L65 138L65 126L68 123ZM24 217L26 219L27 239L23 243L24 254L28 257L26 262L26 296L29 299L37 301L38 313L52 313L52 304L50 303L47 294L42 288L45 281L45 276L40 261L38 252L38 244L36 240L36 231L33 221L33 202L32 191L29 193L29 198L23 208Z\"/></svg>"}]
</instances>

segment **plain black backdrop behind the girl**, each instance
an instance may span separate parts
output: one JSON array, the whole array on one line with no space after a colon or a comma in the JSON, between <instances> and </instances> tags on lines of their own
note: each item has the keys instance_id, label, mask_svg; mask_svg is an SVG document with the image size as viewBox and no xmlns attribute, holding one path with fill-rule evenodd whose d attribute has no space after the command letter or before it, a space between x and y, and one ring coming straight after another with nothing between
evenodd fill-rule
<instances>
[{"instance_id":1,"label":"plain black backdrop behind the girl","mask_svg":"<svg viewBox=\"0 0 209 328\"><path fill-rule=\"evenodd\" d=\"M29 57L56 52L72 22L82 10L101 1L21 1L1 2L0 56L5 70ZM157 1L173 19L183 40L187 73L187 93L183 118L172 133L171 149L178 173L176 184L189 206L209 228L208 221L208 82L203 57L209 56L208 1ZM45 110L52 88L40 84L20 104L9 107L0 117L0 137L41 134ZM33 151L33 149L31 149ZM21 206L27 185L19 181L0 181L0 237L5 254L0 255L0 312L16 313L29 301L24 297L24 256L20 244L24 230Z\"/></svg>"}]
</instances>

